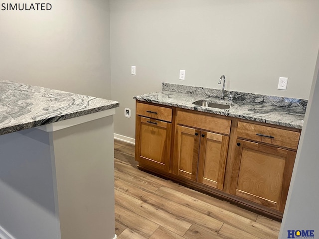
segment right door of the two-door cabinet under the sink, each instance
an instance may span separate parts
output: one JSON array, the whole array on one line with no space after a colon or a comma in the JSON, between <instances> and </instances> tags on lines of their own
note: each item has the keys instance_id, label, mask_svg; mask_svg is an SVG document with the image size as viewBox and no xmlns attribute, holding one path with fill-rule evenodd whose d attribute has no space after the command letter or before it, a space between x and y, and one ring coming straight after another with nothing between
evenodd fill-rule
<instances>
[{"instance_id":1,"label":"right door of the two-door cabinet under the sink","mask_svg":"<svg viewBox=\"0 0 319 239\"><path fill-rule=\"evenodd\" d=\"M201 131L198 182L223 189L228 143L229 136Z\"/></svg>"}]
</instances>

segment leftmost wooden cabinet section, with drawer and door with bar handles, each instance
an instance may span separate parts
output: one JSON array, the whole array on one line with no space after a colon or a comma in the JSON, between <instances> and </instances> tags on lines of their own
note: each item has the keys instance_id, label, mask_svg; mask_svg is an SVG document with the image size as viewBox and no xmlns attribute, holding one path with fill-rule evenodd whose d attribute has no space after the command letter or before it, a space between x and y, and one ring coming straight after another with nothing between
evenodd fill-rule
<instances>
[{"instance_id":1,"label":"leftmost wooden cabinet section, with drawer and door with bar handles","mask_svg":"<svg viewBox=\"0 0 319 239\"><path fill-rule=\"evenodd\" d=\"M172 109L137 103L136 157L142 166L170 169Z\"/></svg>"}]
</instances>

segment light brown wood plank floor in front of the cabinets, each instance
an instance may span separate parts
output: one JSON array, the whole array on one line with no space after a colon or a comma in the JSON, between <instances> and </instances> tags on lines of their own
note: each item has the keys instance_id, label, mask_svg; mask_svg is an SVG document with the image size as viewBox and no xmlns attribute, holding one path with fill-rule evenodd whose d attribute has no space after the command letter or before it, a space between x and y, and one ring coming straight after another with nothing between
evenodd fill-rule
<instances>
[{"instance_id":1,"label":"light brown wood plank floor in front of the cabinets","mask_svg":"<svg viewBox=\"0 0 319 239\"><path fill-rule=\"evenodd\" d=\"M118 239L277 239L280 223L143 172L114 141Z\"/></svg>"}]
</instances>

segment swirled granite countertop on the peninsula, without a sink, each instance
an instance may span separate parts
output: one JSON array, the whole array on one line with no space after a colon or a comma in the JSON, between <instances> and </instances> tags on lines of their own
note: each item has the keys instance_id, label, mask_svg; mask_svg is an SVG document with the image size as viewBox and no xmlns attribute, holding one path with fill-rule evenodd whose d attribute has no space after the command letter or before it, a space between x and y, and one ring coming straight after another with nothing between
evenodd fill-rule
<instances>
[{"instance_id":1,"label":"swirled granite countertop on the peninsula, without a sink","mask_svg":"<svg viewBox=\"0 0 319 239\"><path fill-rule=\"evenodd\" d=\"M0 135L116 107L116 101L0 80Z\"/></svg>"}]
</instances>

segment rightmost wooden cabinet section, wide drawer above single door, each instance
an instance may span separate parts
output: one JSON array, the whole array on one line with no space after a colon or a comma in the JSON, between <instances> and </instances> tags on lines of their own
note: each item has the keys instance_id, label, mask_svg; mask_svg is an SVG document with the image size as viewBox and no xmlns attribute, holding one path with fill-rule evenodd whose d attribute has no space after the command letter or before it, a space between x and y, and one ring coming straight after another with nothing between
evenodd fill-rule
<instances>
[{"instance_id":1,"label":"rightmost wooden cabinet section, wide drawer above single door","mask_svg":"<svg viewBox=\"0 0 319 239\"><path fill-rule=\"evenodd\" d=\"M231 193L284 211L300 132L238 122Z\"/></svg>"}]
</instances>

